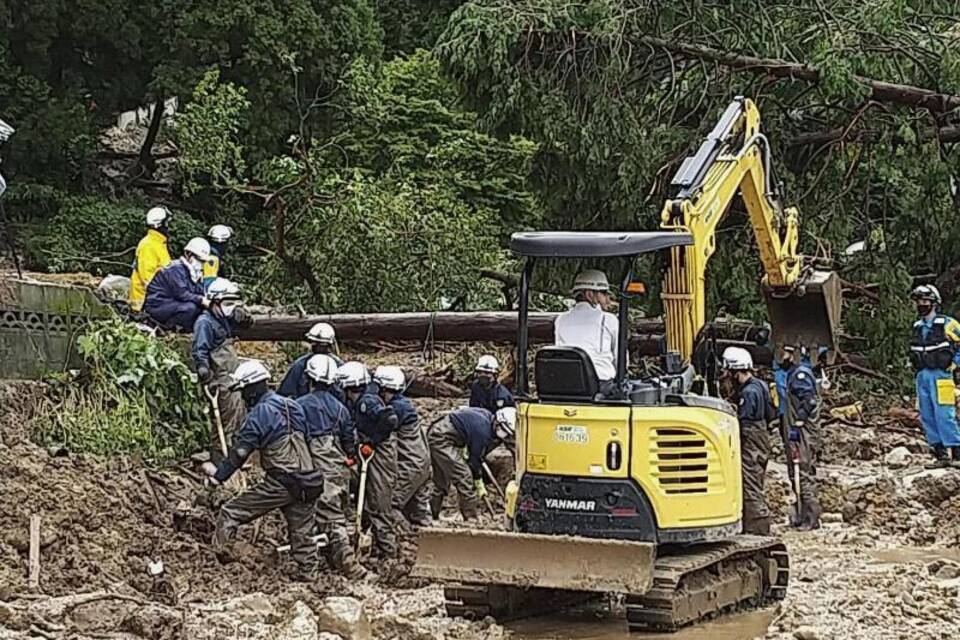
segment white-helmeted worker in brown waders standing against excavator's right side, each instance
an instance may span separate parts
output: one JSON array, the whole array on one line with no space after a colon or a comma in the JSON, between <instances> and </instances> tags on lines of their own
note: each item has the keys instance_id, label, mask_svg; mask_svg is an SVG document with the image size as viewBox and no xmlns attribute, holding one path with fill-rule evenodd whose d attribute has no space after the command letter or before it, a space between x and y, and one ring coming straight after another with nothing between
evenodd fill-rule
<instances>
[{"instance_id":1,"label":"white-helmeted worker in brown waders standing against excavator's right side","mask_svg":"<svg viewBox=\"0 0 960 640\"><path fill-rule=\"evenodd\" d=\"M769 535L770 509L766 499L769 425L776 414L770 388L753 375L753 358L740 347L723 352L724 369L734 377L737 418L740 422L740 465L743 487L743 532Z\"/></svg>"}]
</instances>

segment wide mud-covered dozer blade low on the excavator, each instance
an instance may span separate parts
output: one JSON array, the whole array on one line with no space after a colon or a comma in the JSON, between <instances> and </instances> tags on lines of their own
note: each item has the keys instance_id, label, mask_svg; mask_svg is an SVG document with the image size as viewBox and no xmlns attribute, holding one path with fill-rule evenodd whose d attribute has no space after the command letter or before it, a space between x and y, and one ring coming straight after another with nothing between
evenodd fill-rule
<instances>
[{"instance_id":1,"label":"wide mud-covered dozer blade low on the excavator","mask_svg":"<svg viewBox=\"0 0 960 640\"><path fill-rule=\"evenodd\" d=\"M411 575L467 584L642 594L656 545L629 540L421 529Z\"/></svg>"}]
</instances>

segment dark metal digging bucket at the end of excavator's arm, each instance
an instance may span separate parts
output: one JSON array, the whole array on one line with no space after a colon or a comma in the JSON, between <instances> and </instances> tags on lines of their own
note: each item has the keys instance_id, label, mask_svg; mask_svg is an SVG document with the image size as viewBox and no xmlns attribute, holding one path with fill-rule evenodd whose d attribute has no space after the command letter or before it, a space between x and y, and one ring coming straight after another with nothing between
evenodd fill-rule
<instances>
[{"instance_id":1,"label":"dark metal digging bucket at the end of excavator's arm","mask_svg":"<svg viewBox=\"0 0 960 640\"><path fill-rule=\"evenodd\" d=\"M827 347L828 362L838 346L842 307L840 278L833 271L813 271L788 292L764 287L775 344L802 344L814 354Z\"/></svg>"}]
</instances>

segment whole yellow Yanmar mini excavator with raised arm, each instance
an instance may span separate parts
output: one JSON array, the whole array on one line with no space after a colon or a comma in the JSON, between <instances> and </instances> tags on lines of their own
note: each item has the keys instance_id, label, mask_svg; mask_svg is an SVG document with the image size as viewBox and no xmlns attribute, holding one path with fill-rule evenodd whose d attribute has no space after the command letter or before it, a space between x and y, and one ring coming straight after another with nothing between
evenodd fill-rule
<instances>
[{"instance_id":1,"label":"whole yellow Yanmar mini excavator with raised arm","mask_svg":"<svg viewBox=\"0 0 960 640\"><path fill-rule=\"evenodd\" d=\"M716 229L739 194L765 276L773 339L833 352L840 314L835 274L797 254L798 216L781 205L760 114L736 98L671 182L654 232L518 233L520 280L516 477L511 531L430 528L413 575L441 580L450 615L506 619L556 610L583 594L625 596L633 630L673 630L782 599L783 543L741 534L735 409L717 397L705 321L705 275ZM639 256L667 252L666 353L656 376L627 375L628 307ZM528 383L528 296L534 267L552 258L618 259L620 335L614 385L601 385L581 349L535 356ZM704 353L708 355L705 357ZM709 368L709 367L707 367Z\"/></svg>"}]
</instances>

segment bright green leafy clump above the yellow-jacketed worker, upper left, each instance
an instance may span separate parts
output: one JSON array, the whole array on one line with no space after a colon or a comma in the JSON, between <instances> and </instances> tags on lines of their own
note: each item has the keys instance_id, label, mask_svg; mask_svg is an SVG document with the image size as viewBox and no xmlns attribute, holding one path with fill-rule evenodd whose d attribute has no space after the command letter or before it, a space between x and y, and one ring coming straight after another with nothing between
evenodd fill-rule
<instances>
[{"instance_id":1,"label":"bright green leafy clump above the yellow-jacketed worker, upper left","mask_svg":"<svg viewBox=\"0 0 960 640\"><path fill-rule=\"evenodd\" d=\"M211 184L237 184L246 172L240 131L250 103L245 89L219 79L218 69L204 74L176 118L180 171L188 195Z\"/></svg>"}]
</instances>

